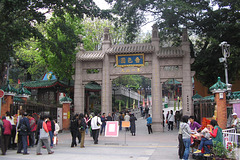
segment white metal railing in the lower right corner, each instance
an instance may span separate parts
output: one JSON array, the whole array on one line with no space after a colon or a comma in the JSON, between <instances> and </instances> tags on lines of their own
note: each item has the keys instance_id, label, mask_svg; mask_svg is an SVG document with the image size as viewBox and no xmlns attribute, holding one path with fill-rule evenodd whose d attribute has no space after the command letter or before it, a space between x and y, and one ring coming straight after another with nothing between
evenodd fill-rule
<instances>
[{"instance_id":1,"label":"white metal railing in the lower right corner","mask_svg":"<svg viewBox=\"0 0 240 160\"><path fill-rule=\"evenodd\" d=\"M222 130L223 133L223 145L228 149L228 147L233 146L235 143L237 148L234 149L236 154L236 159L240 159L240 150L238 146L240 145L240 134L236 132L235 128L229 128Z\"/></svg>"}]
</instances>

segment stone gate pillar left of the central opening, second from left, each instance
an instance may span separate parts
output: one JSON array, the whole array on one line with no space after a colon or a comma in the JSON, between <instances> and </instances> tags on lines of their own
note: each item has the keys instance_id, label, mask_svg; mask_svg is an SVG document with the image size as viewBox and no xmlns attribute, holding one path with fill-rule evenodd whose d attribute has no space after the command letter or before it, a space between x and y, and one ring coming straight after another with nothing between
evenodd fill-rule
<instances>
[{"instance_id":1,"label":"stone gate pillar left of the central opening, second from left","mask_svg":"<svg viewBox=\"0 0 240 160\"><path fill-rule=\"evenodd\" d=\"M102 51L106 52L108 48L111 47L111 40L110 40L110 34L109 29L104 29L104 37L103 37L103 43L102 43ZM105 54L103 59L103 75L102 75L102 97L101 97L101 113L108 113L112 112L112 84L110 81L110 62L109 62L109 56Z\"/></svg>"}]
</instances>

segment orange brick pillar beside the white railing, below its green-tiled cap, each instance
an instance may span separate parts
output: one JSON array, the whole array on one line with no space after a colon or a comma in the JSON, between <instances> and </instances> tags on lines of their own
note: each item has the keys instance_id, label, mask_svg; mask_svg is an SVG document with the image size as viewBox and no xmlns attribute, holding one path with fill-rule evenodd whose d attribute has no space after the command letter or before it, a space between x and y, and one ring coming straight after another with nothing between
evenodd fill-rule
<instances>
[{"instance_id":1,"label":"orange brick pillar beside the white railing, below its green-tiled cap","mask_svg":"<svg viewBox=\"0 0 240 160\"><path fill-rule=\"evenodd\" d=\"M217 122L222 129L227 128L227 103L226 92L215 93L215 102L217 105Z\"/></svg>"}]
</instances>

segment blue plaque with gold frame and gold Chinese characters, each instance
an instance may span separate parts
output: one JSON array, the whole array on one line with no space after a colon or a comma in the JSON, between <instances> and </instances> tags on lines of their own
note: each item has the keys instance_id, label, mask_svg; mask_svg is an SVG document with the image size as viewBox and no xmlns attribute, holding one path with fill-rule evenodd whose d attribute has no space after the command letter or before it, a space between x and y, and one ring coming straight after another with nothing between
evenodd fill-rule
<instances>
[{"instance_id":1,"label":"blue plaque with gold frame and gold Chinese characters","mask_svg":"<svg viewBox=\"0 0 240 160\"><path fill-rule=\"evenodd\" d=\"M118 67L144 66L144 54L121 54L116 55L116 64Z\"/></svg>"}]
</instances>

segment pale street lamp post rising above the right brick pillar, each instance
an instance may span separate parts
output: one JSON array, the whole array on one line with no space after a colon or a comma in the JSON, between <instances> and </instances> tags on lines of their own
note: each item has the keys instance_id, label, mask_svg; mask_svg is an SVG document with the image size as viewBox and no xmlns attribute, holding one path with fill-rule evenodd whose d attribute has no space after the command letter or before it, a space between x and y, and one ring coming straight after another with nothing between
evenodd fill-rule
<instances>
[{"instance_id":1,"label":"pale street lamp post rising above the right brick pillar","mask_svg":"<svg viewBox=\"0 0 240 160\"><path fill-rule=\"evenodd\" d=\"M227 44L227 42L222 42L219 44L219 46L222 48L222 54L223 57L219 58L219 62L224 62L224 68L225 68L225 79L226 79L226 85L227 88L230 87L230 84L228 84L228 66L227 66L227 58L230 56L230 44Z\"/></svg>"}]
</instances>

